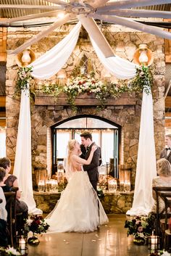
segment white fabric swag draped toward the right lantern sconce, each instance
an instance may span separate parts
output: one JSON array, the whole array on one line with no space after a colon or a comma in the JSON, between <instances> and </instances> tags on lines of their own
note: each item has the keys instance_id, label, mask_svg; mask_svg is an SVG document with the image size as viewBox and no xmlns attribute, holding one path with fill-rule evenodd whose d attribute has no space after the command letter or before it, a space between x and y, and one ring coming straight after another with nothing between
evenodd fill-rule
<instances>
[{"instance_id":1,"label":"white fabric swag draped toward the right lantern sconce","mask_svg":"<svg viewBox=\"0 0 171 256\"><path fill-rule=\"evenodd\" d=\"M90 37L91 38L91 37ZM133 78L136 74L136 65L132 62L129 62L127 59L122 59L118 56L113 57L104 57L104 54L101 52L95 41L91 38L91 44L93 49L96 51L97 57L99 57L101 64L119 79L130 79Z\"/></svg>"}]
</instances>

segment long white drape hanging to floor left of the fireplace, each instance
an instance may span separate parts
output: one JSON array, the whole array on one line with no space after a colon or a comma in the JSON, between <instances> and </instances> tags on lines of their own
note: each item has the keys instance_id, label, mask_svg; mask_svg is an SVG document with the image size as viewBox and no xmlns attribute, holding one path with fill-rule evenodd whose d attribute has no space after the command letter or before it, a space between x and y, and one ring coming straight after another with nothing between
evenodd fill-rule
<instances>
[{"instance_id":1,"label":"long white drape hanging to floor left of the fireplace","mask_svg":"<svg viewBox=\"0 0 171 256\"><path fill-rule=\"evenodd\" d=\"M36 202L33 198L29 89L22 90L21 94L20 117L13 173L17 176L19 188L22 191L21 199L28 205L29 213L41 214L42 211L36 208Z\"/></svg>"}]
</instances>

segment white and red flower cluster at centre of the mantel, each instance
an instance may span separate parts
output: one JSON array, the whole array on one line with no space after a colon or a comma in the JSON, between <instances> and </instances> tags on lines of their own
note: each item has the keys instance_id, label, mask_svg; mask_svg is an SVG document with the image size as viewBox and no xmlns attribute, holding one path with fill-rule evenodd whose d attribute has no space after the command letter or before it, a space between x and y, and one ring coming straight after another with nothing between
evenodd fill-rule
<instances>
[{"instance_id":1,"label":"white and red flower cluster at centre of the mantel","mask_svg":"<svg viewBox=\"0 0 171 256\"><path fill-rule=\"evenodd\" d=\"M96 94L101 91L107 91L107 86L91 77L69 78L66 86L64 86L64 92L71 94L84 94L86 92Z\"/></svg>"}]
</instances>

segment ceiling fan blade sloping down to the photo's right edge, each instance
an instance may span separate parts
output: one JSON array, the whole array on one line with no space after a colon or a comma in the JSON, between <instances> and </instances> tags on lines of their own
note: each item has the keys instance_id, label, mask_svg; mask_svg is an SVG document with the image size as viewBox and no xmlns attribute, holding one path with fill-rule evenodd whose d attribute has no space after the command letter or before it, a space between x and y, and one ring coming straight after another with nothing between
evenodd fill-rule
<instances>
[{"instance_id":1,"label":"ceiling fan blade sloping down to the photo's right edge","mask_svg":"<svg viewBox=\"0 0 171 256\"><path fill-rule=\"evenodd\" d=\"M89 17L93 17L94 19L98 20L106 20L107 22L112 22L118 25L122 25L128 28L133 28L135 30L140 30L145 33L151 33L156 36L160 36L162 38L171 39L171 33L162 30L161 28L152 27L149 25L141 24L138 22L135 22L133 20L129 20L128 18L124 17L117 17L117 16L108 16L108 15L93 15L89 14Z\"/></svg>"}]
</instances>

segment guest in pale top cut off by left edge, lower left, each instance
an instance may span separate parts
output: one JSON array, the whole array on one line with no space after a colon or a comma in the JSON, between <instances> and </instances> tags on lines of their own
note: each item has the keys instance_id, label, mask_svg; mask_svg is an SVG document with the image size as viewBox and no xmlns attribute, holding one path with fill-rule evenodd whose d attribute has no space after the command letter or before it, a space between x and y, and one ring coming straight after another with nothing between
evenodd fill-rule
<instances>
[{"instance_id":1,"label":"guest in pale top cut off by left edge, lower left","mask_svg":"<svg viewBox=\"0 0 171 256\"><path fill-rule=\"evenodd\" d=\"M7 247L8 239L7 239L7 210L6 199L4 197L4 191L0 187L0 198L2 202L0 203L0 246Z\"/></svg>"}]
</instances>

